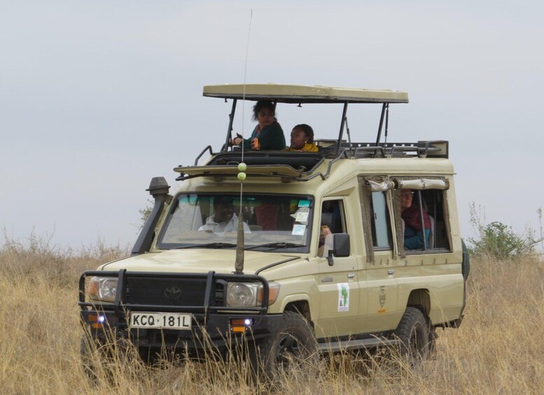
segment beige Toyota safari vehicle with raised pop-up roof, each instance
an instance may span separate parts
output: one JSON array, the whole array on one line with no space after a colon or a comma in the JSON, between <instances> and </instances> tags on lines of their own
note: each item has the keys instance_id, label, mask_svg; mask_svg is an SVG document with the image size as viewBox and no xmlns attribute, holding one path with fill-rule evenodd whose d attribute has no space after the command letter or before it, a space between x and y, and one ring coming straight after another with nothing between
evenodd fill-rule
<instances>
[{"instance_id":1,"label":"beige Toyota safari vehicle with raised pop-up roof","mask_svg":"<svg viewBox=\"0 0 544 395\"><path fill-rule=\"evenodd\" d=\"M83 354L108 333L147 359L244 343L273 375L314 352L397 345L424 357L436 328L461 324L468 255L448 142L381 141L389 105L407 103L407 93L266 84L206 86L204 96L232 103L225 143L174 168L174 194L153 178L155 203L132 256L83 273ZM260 99L342 108L337 139L311 153L230 147L237 101ZM361 103L381 108L370 143L352 142L347 128L348 106ZM404 189L431 224L416 250L404 247ZM237 229L207 231L225 199Z\"/></svg>"}]
</instances>

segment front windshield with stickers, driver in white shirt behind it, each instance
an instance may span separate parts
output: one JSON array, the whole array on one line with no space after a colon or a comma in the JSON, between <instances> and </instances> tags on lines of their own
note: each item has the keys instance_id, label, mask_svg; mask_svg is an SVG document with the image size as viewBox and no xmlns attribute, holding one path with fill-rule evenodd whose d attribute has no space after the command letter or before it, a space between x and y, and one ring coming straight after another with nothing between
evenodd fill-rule
<instances>
[{"instance_id":1,"label":"front windshield with stickers, driver in white shirt behind it","mask_svg":"<svg viewBox=\"0 0 544 395\"><path fill-rule=\"evenodd\" d=\"M313 202L311 196L244 193L240 201L239 194L179 194L157 246L235 248L242 211L246 250L309 252Z\"/></svg>"}]
</instances>

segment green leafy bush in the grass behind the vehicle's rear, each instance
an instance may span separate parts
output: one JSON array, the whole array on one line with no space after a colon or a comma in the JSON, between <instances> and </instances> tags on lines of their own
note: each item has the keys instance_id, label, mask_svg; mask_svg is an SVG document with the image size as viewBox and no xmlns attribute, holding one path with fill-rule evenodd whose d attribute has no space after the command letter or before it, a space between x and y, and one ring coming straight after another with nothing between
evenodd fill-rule
<instances>
[{"instance_id":1,"label":"green leafy bush in the grass behind the vehicle's rear","mask_svg":"<svg viewBox=\"0 0 544 395\"><path fill-rule=\"evenodd\" d=\"M470 206L470 223L477 231L476 237L468 238L469 251L476 256L492 257L499 260L514 259L535 253L535 247L542 239L536 239L532 229L525 234L516 234L512 227L502 222L485 224L482 208L474 203Z\"/></svg>"}]
</instances>

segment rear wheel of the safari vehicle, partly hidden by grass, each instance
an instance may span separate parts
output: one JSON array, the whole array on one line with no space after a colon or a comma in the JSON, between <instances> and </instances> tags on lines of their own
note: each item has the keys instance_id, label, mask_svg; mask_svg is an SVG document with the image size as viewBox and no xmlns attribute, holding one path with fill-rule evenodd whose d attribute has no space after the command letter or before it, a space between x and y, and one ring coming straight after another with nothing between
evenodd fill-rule
<instances>
[{"instance_id":1,"label":"rear wheel of the safari vehicle, partly hidden by grass","mask_svg":"<svg viewBox=\"0 0 544 395\"><path fill-rule=\"evenodd\" d=\"M415 367L426 359L429 352L429 329L421 310L407 307L395 331L395 336L402 342L400 354Z\"/></svg>"}]
</instances>

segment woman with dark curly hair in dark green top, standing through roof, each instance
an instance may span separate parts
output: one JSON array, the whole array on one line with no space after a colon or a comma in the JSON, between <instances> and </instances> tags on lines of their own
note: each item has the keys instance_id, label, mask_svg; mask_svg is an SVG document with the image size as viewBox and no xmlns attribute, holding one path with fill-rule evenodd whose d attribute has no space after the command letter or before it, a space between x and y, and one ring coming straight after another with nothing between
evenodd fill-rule
<instances>
[{"instance_id":1,"label":"woman with dark curly hair in dark green top, standing through roof","mask_svg":"<svg viewBox=\"0 0 544 395\"><path fill-rule=\"evenodd\" d=\"M275 117L274 104L269 100L259 100L253 106L253 120L258 122L250 138L236 134L230 139L233 145L244 145L246 150L283 150L285 148L284 131Z\"/></svg>"}]
</instances>

